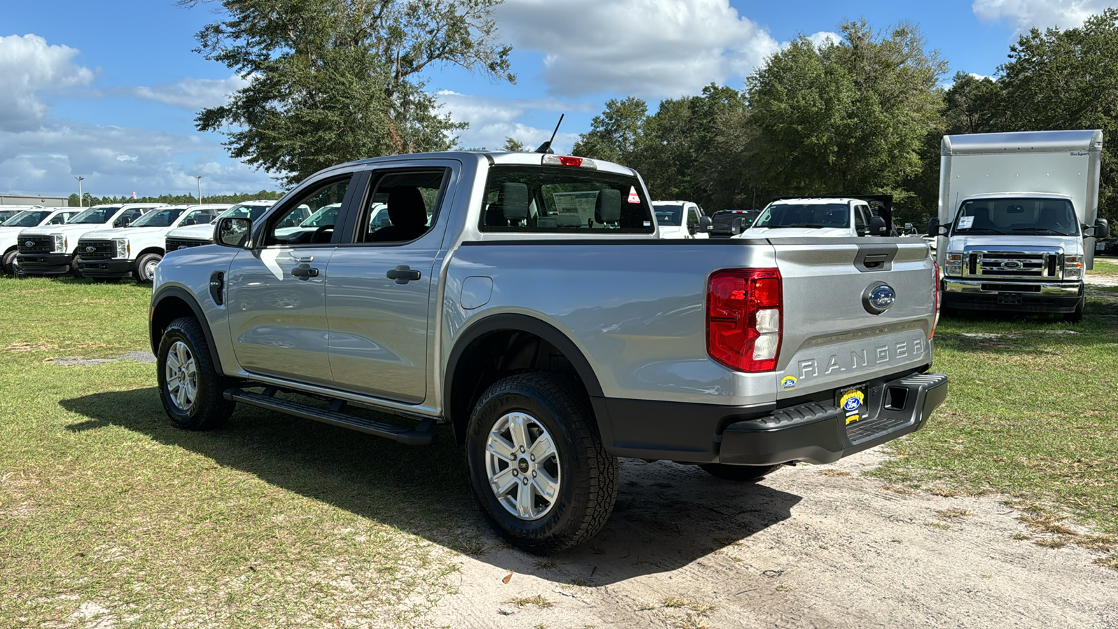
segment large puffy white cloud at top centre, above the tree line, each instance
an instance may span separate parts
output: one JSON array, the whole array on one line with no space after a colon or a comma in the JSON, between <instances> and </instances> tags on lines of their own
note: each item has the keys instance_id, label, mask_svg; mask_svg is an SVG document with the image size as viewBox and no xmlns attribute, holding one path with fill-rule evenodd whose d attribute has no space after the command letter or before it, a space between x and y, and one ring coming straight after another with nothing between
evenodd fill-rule
<instances>
[{"instance_id":1,"label":"large puffy white cloud at top centre, above the tree line","mask_svg":"<svg viewBox=\"0 0 1118 629\"><path fill-rule=\"evenodd\" d=\"M563 96L695 94L778 48L728 0L506 0L496 17L514 47L544 54L541 76Z\"/></svg>"}]
</instances>

